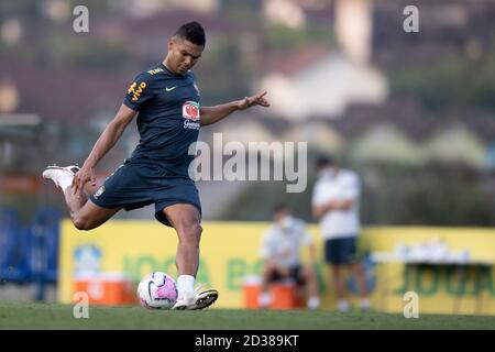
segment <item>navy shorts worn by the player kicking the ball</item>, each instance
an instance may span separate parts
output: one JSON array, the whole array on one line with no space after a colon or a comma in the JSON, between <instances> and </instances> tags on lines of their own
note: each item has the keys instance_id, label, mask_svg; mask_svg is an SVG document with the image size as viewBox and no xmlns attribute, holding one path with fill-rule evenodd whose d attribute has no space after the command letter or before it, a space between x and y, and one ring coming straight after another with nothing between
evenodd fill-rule
<instances>
[{"instance_id":1,"label":"navy shorts worn by the player kicking the ball","mask_svg":"<svg viewBox=\"0 0 495 352\"><path fill-rule=\"evenodd\" d=\"M90 197L101 208L133 210L155 205L155 218L172 227L163 209L176 204L189 204L201 213L201 202L195 183L188 177L164 177L164 172L148 164L125 162L110 175Z\"/></svg>"}]
</instances>

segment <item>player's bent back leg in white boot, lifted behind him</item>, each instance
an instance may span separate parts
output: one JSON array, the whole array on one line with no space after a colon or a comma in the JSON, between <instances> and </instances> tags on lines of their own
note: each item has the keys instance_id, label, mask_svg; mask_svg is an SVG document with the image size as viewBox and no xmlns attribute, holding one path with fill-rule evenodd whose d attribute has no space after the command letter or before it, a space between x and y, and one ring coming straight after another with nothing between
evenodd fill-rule
<instances>
[{"instance_id":1,"label":"player's bent back leg in white boot, lifted behind him","mask_svg":"<svg viewBox=\"0 0 495 352\"><path fill-rule=\"evenodd\" d=\"M84 191L73 193L73 179L79 170L78 166L48 166L43 172L43 178L51 179L55 186L62 189L67 209L70 213L70 220L79 230L91 230L110 219L120 208L102 208L88 201Z\"/></svg>"}]
</instances>

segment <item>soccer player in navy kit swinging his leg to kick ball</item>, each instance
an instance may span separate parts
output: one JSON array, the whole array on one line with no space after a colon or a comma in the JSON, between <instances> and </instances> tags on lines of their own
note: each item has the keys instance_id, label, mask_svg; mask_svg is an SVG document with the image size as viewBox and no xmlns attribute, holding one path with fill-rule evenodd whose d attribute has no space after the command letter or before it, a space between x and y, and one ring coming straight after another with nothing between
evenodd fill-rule
<instances>
[{"instance_id":1,"label":"soccer player in navy kit swinging his leg to kick ball","mask_svg":"<svg viewBox=\"0 0 495 352\"><path fill-rule=\"evenodd\" d=\"M61 187L74 226L91 230L122 208L155 205L155 218L178 235L176 253L178 298L173 309L202 309L218 298L215 289L195 292L201 237L201 205L188 175L188 154L202 125L234 111L268 107L266 92L215 107L200 106L193 66L205 50L201 24L183 24L167 43L165 59L138 75L119 111L107 125L82 167L50 166L43 177ZM140 142L128 158L89 198L84 188L96 185L95 167L138 117ZM89 201L88 201L89 200Z\"/></svg>"}]
</instances>

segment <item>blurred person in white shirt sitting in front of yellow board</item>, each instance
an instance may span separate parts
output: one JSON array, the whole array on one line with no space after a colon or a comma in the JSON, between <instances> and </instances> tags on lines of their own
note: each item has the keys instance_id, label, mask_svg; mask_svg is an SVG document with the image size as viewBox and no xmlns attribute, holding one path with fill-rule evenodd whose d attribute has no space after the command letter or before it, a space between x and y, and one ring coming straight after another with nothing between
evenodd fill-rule
<instances>
[{"instance_id":1,"label":"blurred person in white shirt sitting in front of yellow board","mask_svg":"<svg viewBox=\"0 0 495 352\"><path fill-rule=\"evenodd\" d=\"M317 309L320 305L318 284L315 273L315 245L306 224L294 217L286 206L276 206L273 213L274 226L263 235L261 256L263 258L262 294L260 306L266 308L271 304L270 284L294 280L298 288L306 288L307 307ZM308 265L302 265L301 249L307 248Z\"/></svg>"}]
</instances>

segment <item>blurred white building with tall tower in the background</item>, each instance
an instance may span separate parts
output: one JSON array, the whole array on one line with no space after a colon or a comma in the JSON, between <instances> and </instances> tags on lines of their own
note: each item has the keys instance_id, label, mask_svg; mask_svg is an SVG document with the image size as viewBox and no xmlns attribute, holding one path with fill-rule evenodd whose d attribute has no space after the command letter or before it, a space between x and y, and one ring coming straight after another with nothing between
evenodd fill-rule
<instances>
[{"instance_id":1,"label":"blurred white building with tall tower in the background","mask_svg":"<svg viewBox=\"0 0 495 352\"><path fill-rule=\"evenodd\" d=\"M388 96L386 77L370 64L372 3L336 2L340 51L289 74L268 73L261 79L270 91L271 112L293 121L311 116L339 117L351 103L382 103Z\"/></svg>"}]
</instances>

